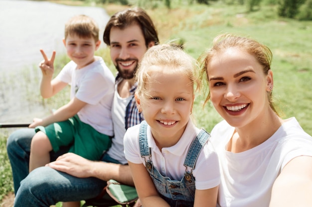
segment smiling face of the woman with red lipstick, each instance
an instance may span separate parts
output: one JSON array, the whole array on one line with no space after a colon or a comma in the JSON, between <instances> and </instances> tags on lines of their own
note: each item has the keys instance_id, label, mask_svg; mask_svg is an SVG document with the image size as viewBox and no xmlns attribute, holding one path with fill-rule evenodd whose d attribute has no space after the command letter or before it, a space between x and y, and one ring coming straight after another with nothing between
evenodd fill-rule
<instances>
[{"instance_id":1,"label":"smiling face of the woman with red lipstick","mask_svg":"<svg viewBox=\"0 0 312 207\"><path fill-rule=\"evenodd\" d=\"M211 101L217 112L233 127L263 121L273 87L272 71L263 72L256 58L237 48L217 53L207 66Z\"/></svg>"}]
</instances>

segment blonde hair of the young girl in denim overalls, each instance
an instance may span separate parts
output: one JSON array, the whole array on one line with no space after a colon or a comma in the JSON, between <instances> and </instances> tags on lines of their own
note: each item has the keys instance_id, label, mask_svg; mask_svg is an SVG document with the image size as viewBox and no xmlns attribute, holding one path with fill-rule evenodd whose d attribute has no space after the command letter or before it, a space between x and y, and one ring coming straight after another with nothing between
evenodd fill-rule
<instances>
[{"instance_id":1,"label":"blonde hair of the young girl in denim overalls","mask_svg":"<svg viewBox=\"0 0 312 207\"><path fill-rule=\"evenodd\" d=\"M157 70L155 70L155 66ZM196 86L195 91L199 90L201 81L199 79L197 61L186 54L180 47L170 44L160 44L151 47L144 55L139 64L135 78L138 84L136 95L139 98L149 97L146 90L147 83L153 81L153 73L159 72L159 67L170 69L164 71L169 73L185 74Z\"/></svg>"}]
</instances>

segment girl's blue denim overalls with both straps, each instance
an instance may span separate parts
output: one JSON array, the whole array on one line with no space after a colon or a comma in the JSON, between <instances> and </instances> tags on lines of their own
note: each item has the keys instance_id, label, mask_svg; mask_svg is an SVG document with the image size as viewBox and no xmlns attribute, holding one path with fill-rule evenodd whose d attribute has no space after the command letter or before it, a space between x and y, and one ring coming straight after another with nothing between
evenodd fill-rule
<instances>
[{"instance_id":1,"label":"girl's blue denim overalls with both straps","mask_svg":"<svg viewBox=\"0 0 312 207\"><path fill-rule=\"evenodd\" d=\"M183 164L185 166L184 176L180 181L176 181L171 180L169 177L162 176L154 167L151 160L151 148L148 146L147 126L148 124L146 121L141 122L139 135L140 152L141 156L145 159L146 168L153 179L160 197L164 199L170 207L193 207L195 178L192 175L192 170L195 168L199 152L210 135L205 130L201 130L193 140ZM147 157L148 160L146 159ZM190 172L187 172L187 167L191 168Z\"/></svg>"}]
</instances>

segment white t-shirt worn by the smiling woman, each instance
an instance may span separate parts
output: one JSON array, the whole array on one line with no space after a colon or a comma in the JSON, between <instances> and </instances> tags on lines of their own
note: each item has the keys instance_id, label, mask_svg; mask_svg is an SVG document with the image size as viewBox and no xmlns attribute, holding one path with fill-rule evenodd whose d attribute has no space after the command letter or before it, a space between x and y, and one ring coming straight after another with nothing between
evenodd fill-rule
<instances>
[{"instance_id":1,"label":"white t-shirt worn by the smiling woman","mask_svg":"<svg viewBox=\"0 0 312 207\"><path fill-rule=\"evenodd\" d=\"M240 152L226 150L234 128L226 121L211 131L220 160L220 207L268 207L271 190L285 165L301 155L312 156L312 138L296 118L286 120L275 134L262 144Z\"/></svg>"}]
</instances>

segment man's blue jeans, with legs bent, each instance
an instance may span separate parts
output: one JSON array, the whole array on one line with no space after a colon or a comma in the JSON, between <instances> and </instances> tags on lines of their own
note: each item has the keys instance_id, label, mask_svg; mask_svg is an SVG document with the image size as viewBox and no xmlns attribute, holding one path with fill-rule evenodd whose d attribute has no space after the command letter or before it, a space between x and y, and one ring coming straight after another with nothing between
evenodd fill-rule
<instances>
[{"instance_id":1,"label":"man's blue jeans, with legs bent","mask_svg":"<svg viewBox=\"0 0 312 207\"><path fill-rule=\"evenodd\" d=\"M57 202L88 200L97 197L106 181L90 177L77 178L50 167L40 167L28 175L30 143L34 129L20 129L7 140L7 153L12 167L14 207L49 207ZM68 150L51 153L51 160Z\"/></svg>"}]
</instances>

